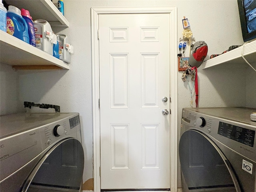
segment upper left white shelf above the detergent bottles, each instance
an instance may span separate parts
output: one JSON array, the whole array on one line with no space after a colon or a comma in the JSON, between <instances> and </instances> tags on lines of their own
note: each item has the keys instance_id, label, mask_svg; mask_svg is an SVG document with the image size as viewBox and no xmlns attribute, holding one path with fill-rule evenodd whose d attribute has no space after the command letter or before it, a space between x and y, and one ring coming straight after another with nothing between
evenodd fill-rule
<instances>
[{"instance_id":1,"label":"upper left white shelf above the detergent bottles","mask_svg":"<svg viewBox=\"0 0 256 192\"><path fill-rule=\"evenodd\" d=\"M6 0L6 3L28 10L33 20L44 19L52 27L69 27L68 20L51 0Z\"/></svg>"}]
</instances>

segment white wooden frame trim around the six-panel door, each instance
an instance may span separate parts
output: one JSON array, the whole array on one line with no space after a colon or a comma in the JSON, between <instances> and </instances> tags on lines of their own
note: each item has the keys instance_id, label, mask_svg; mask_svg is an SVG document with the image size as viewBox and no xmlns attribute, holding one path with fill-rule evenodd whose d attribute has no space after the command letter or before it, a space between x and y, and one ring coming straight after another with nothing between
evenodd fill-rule
<instances>
[{"instance_id":1,"label":"white wooden frame trim around the six-panel door","mask_svg":"<svg viewBox=\"0 0 256 192\"><path fill-rule=\"evenodd\" d=\"M177 6L150 7L92 7L92 127L94 192L100 192L100 67L98 25L99 14L166 13L170 16L170 190L178 188L178 64L177 64Z\"/></svg>"}]
</instances>

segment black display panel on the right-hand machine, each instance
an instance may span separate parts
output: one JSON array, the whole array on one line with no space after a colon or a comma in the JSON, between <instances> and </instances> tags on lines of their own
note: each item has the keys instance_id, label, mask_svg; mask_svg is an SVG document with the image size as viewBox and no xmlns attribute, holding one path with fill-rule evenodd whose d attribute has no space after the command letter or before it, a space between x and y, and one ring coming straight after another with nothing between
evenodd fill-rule
<instances>
[{"instance_id":1,"label":"black display panel on the right-hand machine","mask_svg":"<svg viewBox=\"0 0 256 192\"><path fill-rule=\"evenodd\" d=\"M228 123L220 122L218 128L218 134L226 138L230 138L242 144L253 147L255 131L234 126Z\"/></svg>"}]
</instances>

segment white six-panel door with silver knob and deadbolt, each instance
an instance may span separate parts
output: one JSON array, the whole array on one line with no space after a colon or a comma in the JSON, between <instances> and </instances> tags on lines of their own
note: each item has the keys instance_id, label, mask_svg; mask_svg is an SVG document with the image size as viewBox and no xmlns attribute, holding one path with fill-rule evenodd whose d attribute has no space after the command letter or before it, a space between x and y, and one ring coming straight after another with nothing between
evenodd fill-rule
<instances>
[{"instance_id":1,"label":"white six-panel door with silver knob and deadbolt","mask_svg":"<svg viewBox=\"0 0 256 192\"><path fill-rule=\"evenodd\" d=\"M99 15L101 189L170 188L169 29L169 14Z\"/></svg>"}]
</instances>

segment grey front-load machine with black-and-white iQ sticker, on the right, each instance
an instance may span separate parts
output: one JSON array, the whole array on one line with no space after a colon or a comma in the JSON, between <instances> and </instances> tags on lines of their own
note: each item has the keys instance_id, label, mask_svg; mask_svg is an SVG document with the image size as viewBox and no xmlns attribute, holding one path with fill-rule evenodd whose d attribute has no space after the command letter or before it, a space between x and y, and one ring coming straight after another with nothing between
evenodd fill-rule
<instances>
[{"instance_id":1,"label":"grey front-load machine with black-and-white iQ sticker, on the right","mask_svg":"<svg viewBox=\"0 0 256 192\"><path fill-rule=\"evenodd\" d=\"M183 108L182 192L256 192L252 108Z\"/></svg>"}]
</instances>

